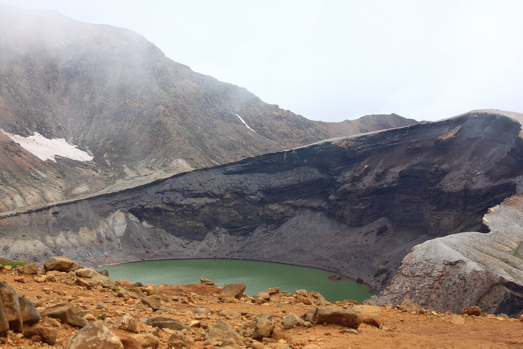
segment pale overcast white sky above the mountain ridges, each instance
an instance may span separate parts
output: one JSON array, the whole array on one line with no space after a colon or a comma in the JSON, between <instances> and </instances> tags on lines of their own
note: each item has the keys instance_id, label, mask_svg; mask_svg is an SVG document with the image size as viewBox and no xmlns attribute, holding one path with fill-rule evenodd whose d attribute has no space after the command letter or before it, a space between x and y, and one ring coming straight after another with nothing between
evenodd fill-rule
<instances>
[{"instance_id":1,"label":"pale overcast white sky above the mountain ridges","mask_svg":"<svg viewBox=\"0 0 523 349\"><path fill-rule=\"evenodd\" d=\"M0 0L132 29L309 119L523 112L523 1Z\"/></svg>"}]
</instances>

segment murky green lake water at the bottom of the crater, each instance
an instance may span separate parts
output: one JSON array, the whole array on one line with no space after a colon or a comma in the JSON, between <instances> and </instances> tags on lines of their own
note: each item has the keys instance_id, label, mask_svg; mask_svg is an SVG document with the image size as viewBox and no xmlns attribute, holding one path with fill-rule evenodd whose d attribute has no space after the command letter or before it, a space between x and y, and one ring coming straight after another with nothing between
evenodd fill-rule
<instances>
[{"instance_id":1,"label":"murky green lake water at the bottom of the crater","mask_svg":"<svg viewBox=\"0 0 523 349\"><path fill-rule=\"evenodd\" d=\"M134 262L108 265L113 280L125 279L132 283L151 283L160 285L199 284L200 278L211 279L223 287L228 283L244 283L245 293L254 295L269 287L280 287L280 291L295 292L298 289L320 292L328 301L354 299L358 302L374 295L367 285L358 284L353 279L342 277L331 280L335 273L322 269L288 264L242 261L242 260L166 260Z\"/></svg>"}]
</instances>

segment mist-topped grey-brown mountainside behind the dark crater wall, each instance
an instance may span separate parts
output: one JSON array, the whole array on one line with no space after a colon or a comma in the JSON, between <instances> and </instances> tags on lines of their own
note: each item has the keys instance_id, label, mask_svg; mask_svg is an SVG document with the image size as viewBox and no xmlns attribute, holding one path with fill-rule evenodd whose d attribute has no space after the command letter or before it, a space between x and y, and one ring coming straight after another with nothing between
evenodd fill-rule
<instances>
[{"instance_id":1,"label":"mist-topped grey-brown mountainside behind the dark crater wall","mask_svg":"<svg viewBox=\"0 0 523 349\"><path fill-rule=\"evenodd\" d=\"M0 129L65 139L93 156L85 165L28 155L37 167L53 168L35 177L26 169L12 175L12 152L0 153L2 211L332 138L245 88L168 59L123 28L0 4L0 52Z\"/></svg>"}]
</instances>

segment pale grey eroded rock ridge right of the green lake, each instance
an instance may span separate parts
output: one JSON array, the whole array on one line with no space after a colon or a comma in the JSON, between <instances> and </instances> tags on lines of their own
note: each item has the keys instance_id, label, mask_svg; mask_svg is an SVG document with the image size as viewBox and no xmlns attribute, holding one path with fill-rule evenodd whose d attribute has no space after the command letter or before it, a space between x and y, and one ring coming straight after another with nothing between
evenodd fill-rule
<instances>
[{"instance_id":1,"label":"pale grey eroded rock ridge right of the green lake","mask_svg":"<svg viewBox=\"0 0 523 349\"><path fill-rule=\"evenodd\" d=\"M489 233L463 232L416 245L391 284L373 297L380 303L417 299L426 307L519 316L523 311L523 197L488 210Z\"/></svg>"}]
</instances>

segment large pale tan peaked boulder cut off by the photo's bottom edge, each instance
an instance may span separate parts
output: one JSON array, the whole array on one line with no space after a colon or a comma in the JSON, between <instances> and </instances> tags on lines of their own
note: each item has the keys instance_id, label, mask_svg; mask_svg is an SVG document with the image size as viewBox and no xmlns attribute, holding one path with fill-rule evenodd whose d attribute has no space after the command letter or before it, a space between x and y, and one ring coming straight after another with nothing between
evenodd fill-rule
<instances>
[{"instance_id":1,"label":"large pale tan peaked boulder cut off by the photo's bottom edge","mask_svg":"<svg viewBox=\"0 0 523 349\"><path fill-rule=\"evenodd\" d=\"M106 325L92 322L71 336L65 349L123 349L123 344Z\"/></svg>"}]
</instances>

